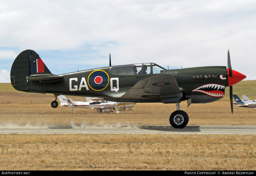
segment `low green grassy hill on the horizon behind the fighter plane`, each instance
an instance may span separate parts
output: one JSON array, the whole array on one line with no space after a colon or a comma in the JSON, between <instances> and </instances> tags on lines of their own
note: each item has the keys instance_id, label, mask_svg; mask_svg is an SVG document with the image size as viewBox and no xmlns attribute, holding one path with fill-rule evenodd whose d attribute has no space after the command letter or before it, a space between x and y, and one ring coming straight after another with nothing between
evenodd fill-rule
<instances>
[{"instance_id":1,"label":"low green grassy hill on the horizon behind the fighter plane","mask_svg":"<svg viewBox=\"0 0 256 176\"><path fill-rule=\"evenodd\" d=\"M256 80L241 81L233 85L233 94L237 94L240 98L247 95L251 100L256 99ZM20 92L13 88L11 83L0 83L0 91ZM221 101L229 101L229 87L225 89L225 97Z\"/></svg>"}]
</instances>

